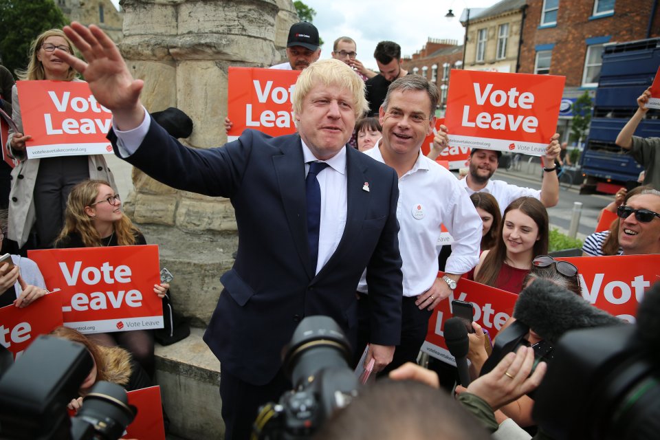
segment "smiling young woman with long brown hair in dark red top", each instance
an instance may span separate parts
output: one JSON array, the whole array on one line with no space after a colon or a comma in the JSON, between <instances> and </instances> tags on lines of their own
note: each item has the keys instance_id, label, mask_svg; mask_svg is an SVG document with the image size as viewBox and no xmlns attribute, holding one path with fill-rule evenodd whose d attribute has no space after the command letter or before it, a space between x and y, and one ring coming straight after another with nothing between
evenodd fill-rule
<instances>
[{"instance_id":1,"label":"smiling young woman with long brown hair in dark red top","mask_svg":"<svg viewBox=\"0 0 660 440\"><path fill-rule=\"evenodd\" d=\"M474 281L518 294L535 255L548 253L548 212L534 197L520 197L504 211L494 248L481 254Z\"/></svg>"}]
</instances>

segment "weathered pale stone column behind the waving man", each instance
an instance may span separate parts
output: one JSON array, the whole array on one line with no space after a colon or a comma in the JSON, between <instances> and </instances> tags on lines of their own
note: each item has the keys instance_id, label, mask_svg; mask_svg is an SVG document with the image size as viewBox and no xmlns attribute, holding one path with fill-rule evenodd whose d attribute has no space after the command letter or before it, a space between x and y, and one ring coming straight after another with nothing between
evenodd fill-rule
<instances>
[{"instance_id":1,"label":"weathered pale stone column behind the waving man","mask_svg":"<svg viewBox=\"0 0 660 440\"><path fill-rule=\"evenodd\" d=\"M226 141L229 66L279 63L289 27L298 21L291 0L122 0L120 50L135 78L144 80L150 112L177 107L195 129L182 142L209 148ZM228 199L204 197L159 184L133 169L135 191L126 213L150 243L161 245L173 272L173 300L193 323L206 325L217 302L219 276L237 248Z\"/></svg>"}]
</instances>

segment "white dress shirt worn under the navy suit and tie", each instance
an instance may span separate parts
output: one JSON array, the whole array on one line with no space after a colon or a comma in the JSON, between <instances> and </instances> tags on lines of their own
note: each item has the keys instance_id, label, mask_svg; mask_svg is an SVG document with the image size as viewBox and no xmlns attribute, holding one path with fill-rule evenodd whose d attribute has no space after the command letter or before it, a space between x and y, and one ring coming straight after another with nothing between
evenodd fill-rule
<instances>
[{"instance_id":1,"label":"white dress shirt worn under the navy suit and tie","mask_svg":"<svg viewBox=\"0 0 660 440\"><path fill-rule=\"evenodd\" d=\"M151 126L151 117L144 110L144 120L140 126L130 131L115 129L118 141L117 146L122 157L133 155L142 144L146 133ZM113 120L113 126L114 120ZM309 162L318 159L303 142L303 158L305 159L305 176L309 171ZM318 234L318 260L316 274L328 262L337 249L344 234L347 213L347 176L346 176L346 148L325 161L329 166L321 170L316 176L321 188L321 223ZM303 185L304 186L304 185Z\"/></svg>"}]
</instances>

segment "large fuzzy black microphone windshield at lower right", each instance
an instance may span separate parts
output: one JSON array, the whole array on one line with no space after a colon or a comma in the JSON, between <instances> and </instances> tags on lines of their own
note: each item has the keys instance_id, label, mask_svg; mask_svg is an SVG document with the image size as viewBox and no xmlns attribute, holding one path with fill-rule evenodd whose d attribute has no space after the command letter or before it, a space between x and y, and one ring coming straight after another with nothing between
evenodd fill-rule
<instances>
[{"instance_id":1,"label":"large fuzzy black microphone windshield at lower right","mask_svg":"<svg viewBox=\"0 0 660 440\"><path fill-rule=\"evenodd\" d=\"M516 301L514 318L556 344L569 330L621 325L623 320L597 309L587 300L544 279L536 279Z\"/></svg>"}]
</instances>

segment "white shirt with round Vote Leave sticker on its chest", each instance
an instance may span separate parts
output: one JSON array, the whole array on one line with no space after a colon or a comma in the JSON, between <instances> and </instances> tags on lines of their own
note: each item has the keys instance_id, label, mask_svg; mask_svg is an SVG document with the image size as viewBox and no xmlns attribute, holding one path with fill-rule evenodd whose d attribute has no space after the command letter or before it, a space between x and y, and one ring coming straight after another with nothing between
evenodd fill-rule
<instances>
[{"instance_id":1,"label":"white shirt with round Vote Leave sticker on its chest","mask_svg":"<svg viewBox=\"0 0 660 440\"><path fill-rule=\"evenodd\" d=\"M364 154L385 162L380 141ZM478 263L481 217L456 177L421 153L412 169L399 178L397 219L404 296L423 294L436 280L439 252L436 243L441 223L454 237L445 271L464 274ZM358 291L367 292L365 274Z\"/></svg>"}]
</instances>

